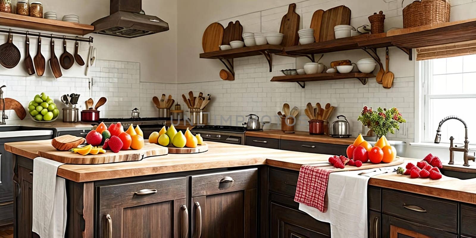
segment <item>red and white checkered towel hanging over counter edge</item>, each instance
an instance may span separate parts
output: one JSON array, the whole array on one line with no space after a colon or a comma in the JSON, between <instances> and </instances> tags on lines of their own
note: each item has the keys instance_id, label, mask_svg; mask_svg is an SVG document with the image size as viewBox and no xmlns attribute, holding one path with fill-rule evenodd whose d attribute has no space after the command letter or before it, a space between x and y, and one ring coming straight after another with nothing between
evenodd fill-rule
<instances>
[{"instance_id":1,"label":"red and white checkered towel hanging over counter edge","mask_svg":"<svg viewBox=\"0 0 476 238\"><path fill-rule=\"evenodd\" d=\"M327 182L335 169L323 169L313 165L303 165L299 170L294 201L327 211Z\"/></svg>"}]
</instances>

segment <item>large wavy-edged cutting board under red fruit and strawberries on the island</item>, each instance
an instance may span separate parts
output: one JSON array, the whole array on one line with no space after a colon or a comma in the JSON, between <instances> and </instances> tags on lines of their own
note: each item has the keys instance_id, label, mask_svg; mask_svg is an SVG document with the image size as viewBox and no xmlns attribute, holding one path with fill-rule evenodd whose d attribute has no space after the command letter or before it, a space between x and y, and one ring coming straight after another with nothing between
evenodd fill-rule
<instances>
[{"instance_id":1,"label":"large wavy-edged cutting board under red fruit and strawberries on the island","mask_svg":"<svg viewBox=\"0 0 476 238\"><path fill-rule=\"evenodd\" d=\"M108 150L104 154L80 155L69 151L58 151L53 146L49 146L48 149L40 149L38 155L65 164L107 164L138 161L149 156L166 155L168 151L167 147L151 144L146 141L142 149L121 150L118 153Z\"/></svg>"}]
</instances>

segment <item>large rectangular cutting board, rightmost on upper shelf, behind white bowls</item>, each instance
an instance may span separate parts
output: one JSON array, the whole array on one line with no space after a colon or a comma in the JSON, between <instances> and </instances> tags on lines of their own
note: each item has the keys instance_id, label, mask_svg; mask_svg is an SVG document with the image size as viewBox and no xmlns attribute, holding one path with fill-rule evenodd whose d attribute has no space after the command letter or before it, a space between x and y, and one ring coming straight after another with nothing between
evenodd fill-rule
<instances>
[{"instance_id":1,"label":"large rectangular cutting board, rightmost on upper shelf, behind white bowls","mask_svg":"<svg viewBox=\"0 0 476 238\"><path fill-rule=\"evenodd\" d=\"M322 15L319 42L336 39L334 27L337 25L350 25L350 9L346 6L338 6L328 9Z\"/></svg>"}]
</instances>

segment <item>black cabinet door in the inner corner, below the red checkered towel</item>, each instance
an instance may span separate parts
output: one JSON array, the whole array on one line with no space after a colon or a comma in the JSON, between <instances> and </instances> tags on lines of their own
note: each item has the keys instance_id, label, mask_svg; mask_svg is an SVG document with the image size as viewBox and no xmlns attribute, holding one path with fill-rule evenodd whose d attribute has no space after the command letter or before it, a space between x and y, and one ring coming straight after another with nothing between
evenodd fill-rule
<instances>
[{"instance_id":1,"label":"black cabinet door in the inner corner, below the red checkered towel","mask_svg":"<svg viewBox=\"0 0 476 238\"><path fill-rule=\"evenodd\" d=\"M272 238L328 238L330 226L306 213L271 203Z\"/></svg>"}]
</instances>

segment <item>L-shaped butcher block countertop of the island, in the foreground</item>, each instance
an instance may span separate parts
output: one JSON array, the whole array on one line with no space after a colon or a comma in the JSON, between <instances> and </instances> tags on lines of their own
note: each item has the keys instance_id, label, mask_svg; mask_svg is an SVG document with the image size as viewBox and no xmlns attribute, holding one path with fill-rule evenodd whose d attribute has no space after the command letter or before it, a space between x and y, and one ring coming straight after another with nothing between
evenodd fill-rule
<instances>
[{"instance_id":1,"label":"L-shaped butcher block countertop of the island, in the foreground","mask_svg":"<svg viewBox=\"0 0 476 238\"><path fill-rule=\"evenodd\" d=\"M14 154L34 159L38 150L50 147L51 140L11 142L5 149ZM148 157L140 161L97 165L65 164L58 168L58 176L87 182L111 178L126 178L200 169L218 169L240 166L269 165L283 169L299 170L302 165L327 161L329 155L267 149L243 145L206 142L208 151L198 154L169 154ZM416 163L417 159L404 158ZM476 169L472 165L469 169ZM476 178L461 180L443 177L439 180L414 178L387 173L370 178L369 185L419 193L476 204Z\"/></svg>"}]
</instances>

